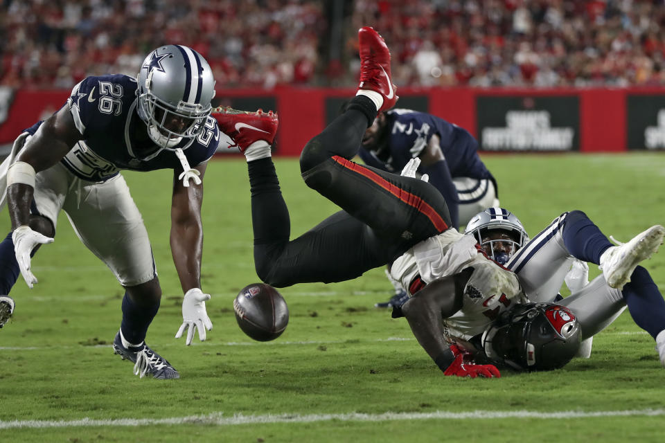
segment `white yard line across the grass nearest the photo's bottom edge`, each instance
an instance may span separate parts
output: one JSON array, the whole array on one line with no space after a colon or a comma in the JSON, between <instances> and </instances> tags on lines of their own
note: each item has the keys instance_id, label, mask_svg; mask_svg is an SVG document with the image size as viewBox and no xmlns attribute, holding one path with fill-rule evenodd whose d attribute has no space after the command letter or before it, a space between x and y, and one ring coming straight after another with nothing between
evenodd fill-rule
<instances>
[{"instance_id":1,"label":"white yard line across the grass nearest the photo's bottom edge","mask_svg":"<svg viewBox=\"0 0 665 443\"><path fill-rule=\"evenodd\" d=\"M635 416L662 416L664 409L641 410L562 410L550 413L540 413L533 410L472 410L456 413L437 410L433 413L383 413L383 414L278 414L278 415L242 415L234 414L224 417L224 413L209 415L190 415L188 417L170 417L158 419L89 419L78 420L15 420L0 421L0 429L9 428L91 428L94 426L154 426L164 424L209 424L216 426L233 426L238 424L269 424L269 423L312 423L330 422L391 422L394 420L427 420L427 419L575 419L589 417L635 417Z\"/></svg>"}]
</instances>

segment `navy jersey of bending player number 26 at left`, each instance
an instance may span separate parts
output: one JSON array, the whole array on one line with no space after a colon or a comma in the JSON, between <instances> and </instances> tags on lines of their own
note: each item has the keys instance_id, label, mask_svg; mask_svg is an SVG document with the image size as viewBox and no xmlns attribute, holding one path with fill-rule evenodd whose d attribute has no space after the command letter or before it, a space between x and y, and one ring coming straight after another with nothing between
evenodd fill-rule
<instances>
[{"instance_id":1,"label":"navy jersey of bending player number 26 at left","mask_svg":"<svg viewBox=\"0 0 665 443\"><path fill-rule=\"evenodd\" d=\"M175 152L154 146L156 155L136 154L134 125L141 125L136 116L136 80L127 75L101 75L88 77L77 84L67 100L76 128L83 136L61 163L80 179L104 181L120 170L152 171L158 169L181 170ZM26 129L37 131L42 122ZM139 129L140 130L140 129ZM213 117L208 117L205 128L195 141L184 150L192 168L215 154L220 143L220 129ZM226 136L225 136L226 137ZM181 141L183 147L188 141Z\"/></svg>"}]
</instances>

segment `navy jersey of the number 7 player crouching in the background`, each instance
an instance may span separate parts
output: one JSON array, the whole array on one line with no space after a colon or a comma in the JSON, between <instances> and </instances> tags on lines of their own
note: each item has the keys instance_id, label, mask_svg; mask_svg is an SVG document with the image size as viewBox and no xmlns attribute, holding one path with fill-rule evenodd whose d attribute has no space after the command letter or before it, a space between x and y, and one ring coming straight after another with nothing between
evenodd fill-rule
<instances>
[{"instance_id":1,"label":"navy jersey of the number 7 player crouching in the background","mask_svg":"<svg viewBox=\"0 0 665 443\"><path fill-rule=\"evenodd\" d=\"M369 165L400 173L410 159L420 156L434 134L452 177L489 179L490 172L478 156L478 142L465 129L411 109L386 112L387 147L379 153L360 148L360 157Z\"/></svg>"}]
</instances>

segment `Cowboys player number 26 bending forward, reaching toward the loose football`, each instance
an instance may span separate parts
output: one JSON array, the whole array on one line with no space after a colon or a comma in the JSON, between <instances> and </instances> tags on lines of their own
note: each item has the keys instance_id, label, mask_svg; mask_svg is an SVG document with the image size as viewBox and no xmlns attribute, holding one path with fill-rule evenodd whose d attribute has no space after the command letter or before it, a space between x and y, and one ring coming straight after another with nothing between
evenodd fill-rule
<instances>
[{"instance_id":1,"label":"Cowboys player number 26 bending forward, reaching toward the loose football","mask_svg":"<svg viewBox=\"0 0 665 443\"><path fill-rule=\"evenodd\" d=\"M0 244L0 325L14 310L7 294L19 271L28 287L37 282L30 257L53 242L57 215L65 210L78 237L125 288L115 353L136 363L141 377L179 377L144 342L161 287L148 233L120 171L174 170L170 246L185 294L176 338L189 328L187 345L195 329L204 340L212 323L205 307L210 296L200 289L202 179L220 143L210 116L214 95L213 74L199 53L161 46L136 79L88 77L59 111L17 138L0 169L7 172L13 229Z\"/></svg>"}]
</instances>

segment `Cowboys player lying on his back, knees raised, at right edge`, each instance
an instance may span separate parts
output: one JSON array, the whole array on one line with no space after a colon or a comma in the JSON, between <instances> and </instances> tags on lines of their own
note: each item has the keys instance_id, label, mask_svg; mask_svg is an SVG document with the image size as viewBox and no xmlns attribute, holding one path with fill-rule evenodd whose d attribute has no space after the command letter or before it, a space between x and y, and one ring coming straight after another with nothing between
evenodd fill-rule
<instances>
[{"instance_id":1,"label":"Cowboys player lying on his back, knees raised, at right edge","mask_svg":"<svg viewBox=\"0 0 665 443\"><path fill-rule=\"evenodd\" d=\"M491 249L488 240L502 235L502 229L508 230L498 219L485 222L479 219L469 224L469 233L481 240L484 237L481 243L486 250ZM655 339L665 366L665 301L648 271L637 266L657 250L663 235L662 226L652 226L617 248L585 213L574 210L554 219L517 251L506 266L517 274L529 300L556 301L574 311L583 338L589 344L589 353L590 337L612 323L628 306L635 323ZM603 274L590 283L587 283L587 262L603 269ZM580 276L571 282L576 269ZM560 300L558 290L564 281L571 296Z\"/></svg>"}]
</instances>

